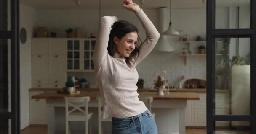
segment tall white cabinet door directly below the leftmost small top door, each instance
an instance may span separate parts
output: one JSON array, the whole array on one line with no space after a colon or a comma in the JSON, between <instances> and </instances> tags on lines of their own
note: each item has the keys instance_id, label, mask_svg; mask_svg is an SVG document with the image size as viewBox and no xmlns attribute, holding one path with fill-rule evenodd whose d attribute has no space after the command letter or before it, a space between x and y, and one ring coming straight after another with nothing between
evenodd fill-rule
<instances>
[{"instance_id":1,"label":"tall white cabinet door directly below the leftmost small top door","mask_svg":"<svg viewBox=\"0 0 256 134\"><path fill-rule=\"evenodd\" d=\"M32 55L32 80L48 80L49 57L47 55Z\"/></svg>"}]
</instances>

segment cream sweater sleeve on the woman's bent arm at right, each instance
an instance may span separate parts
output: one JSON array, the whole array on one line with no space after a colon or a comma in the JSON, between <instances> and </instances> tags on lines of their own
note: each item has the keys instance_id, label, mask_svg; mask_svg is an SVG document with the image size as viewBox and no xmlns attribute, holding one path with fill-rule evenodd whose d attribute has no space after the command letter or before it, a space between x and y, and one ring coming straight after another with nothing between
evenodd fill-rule
<instances>
[{"instance_id":1,"label":"cream sweater sleeve on the woman's bent arm at right","mask_svg":"<svg viewBox=\"0 0 256 134\"><path fill-rule=\"evenodd\" d=\"M152 51L152 49L157 44L160 34L158 33L157 29L155 28L153 23L149 20L149 18L147 17L147 15L144 13L142 9L135 14L141 21L142 26L146 32L146 39L142 42L141 48L140 48L140 54L134 62L136 66L145 57L147 57L147 55Z\"/></svg>"}]
</instances>

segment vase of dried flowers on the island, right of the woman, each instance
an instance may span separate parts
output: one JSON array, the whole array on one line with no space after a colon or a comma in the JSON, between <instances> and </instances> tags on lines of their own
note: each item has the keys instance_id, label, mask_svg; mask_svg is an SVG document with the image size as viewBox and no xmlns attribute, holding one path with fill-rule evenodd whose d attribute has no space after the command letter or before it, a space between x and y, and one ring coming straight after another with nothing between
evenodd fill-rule
<instances>
[{"instance_id":1,"label":"vase of dried flowers on the island, right of the woman","mask_svg":"<svg viewBox=\"0 0 256 134\"><path fill-rule=\"evenodd\" d=\"M161 75L155 74L153 76L157 76L157 80L154 80L155 88L157 88L157 94L160 96L164 95L164 91L166 90L166 87L168 87L168 80L165 80L163 77L166 74L166 71L163 71Z\"/></svg>"}]
</instances>

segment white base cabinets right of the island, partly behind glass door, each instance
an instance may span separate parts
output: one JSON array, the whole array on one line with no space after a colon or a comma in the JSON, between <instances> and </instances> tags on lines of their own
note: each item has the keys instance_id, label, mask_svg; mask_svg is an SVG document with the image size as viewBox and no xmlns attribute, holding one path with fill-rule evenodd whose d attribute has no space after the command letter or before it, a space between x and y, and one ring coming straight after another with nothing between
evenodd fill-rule
<instances>
[{"instance_id":1,"label":"white base cabinets right of the island, partly behind glass door","mask_svg":"<svg viewBox=\"0 0 256 134\"><path fill-rule=\"evenodd\" d=\"M206 126L206 93L197 93L200 100L187 101L186 126ZM229 93L215 94L216 115L229 115ZM217 122L216 126L229 126L229 121Z\"/></svg>"}]
</instances>

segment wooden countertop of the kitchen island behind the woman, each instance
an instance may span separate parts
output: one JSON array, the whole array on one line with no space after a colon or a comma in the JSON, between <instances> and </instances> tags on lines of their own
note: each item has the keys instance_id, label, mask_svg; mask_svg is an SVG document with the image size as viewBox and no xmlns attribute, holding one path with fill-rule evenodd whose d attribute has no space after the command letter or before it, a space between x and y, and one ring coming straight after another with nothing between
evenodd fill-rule
<instances>
[{"instance_id":1,"label":"wooden countertop of the kitchen island behind the woman","mask_svg":"<svg viewBox=\"0 0 256 134\"><path fill-rule=\"evenodd\" d=\"M58 100L63 99L65 96L72 97L82 97L89 96L91 99L95 100L98 96L100 96L99 91L81 91L80 94L75 95L67 95L67 94L59 94L59 93L41 93L38 95L32 96L32 99L50 99L50 100ZM165 94L163 96L157 95L157 92L139 92L139 97L147 97L152 96L154 100L199 100L199 96L195 92L170 92L169 94Z\"/></svg>"}]
</instances>

